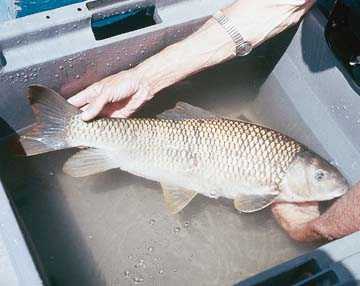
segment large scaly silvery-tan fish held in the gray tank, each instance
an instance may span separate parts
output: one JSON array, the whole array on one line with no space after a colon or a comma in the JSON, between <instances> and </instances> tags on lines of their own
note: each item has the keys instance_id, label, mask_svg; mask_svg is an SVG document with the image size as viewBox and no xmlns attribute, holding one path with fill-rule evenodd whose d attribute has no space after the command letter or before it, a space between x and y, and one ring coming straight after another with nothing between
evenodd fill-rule
<instances>
[{"instance_id":1,"label":"large scaly silvery-tan fish held in the gray tank","mask_svg":"<svg viewBox=\"0 0 360 286\"><path fill-rule=\"evenodd\" d=\"M35 124L20 134L27 156L79 147L63 171L84 177L120 168L159 182L172 214L201 194L243 213L279 202L331 200L348 190L341 173L271 128L179 102L156 118L80 119L45 86L28 88Z\"/></svg>"}]
</instances>

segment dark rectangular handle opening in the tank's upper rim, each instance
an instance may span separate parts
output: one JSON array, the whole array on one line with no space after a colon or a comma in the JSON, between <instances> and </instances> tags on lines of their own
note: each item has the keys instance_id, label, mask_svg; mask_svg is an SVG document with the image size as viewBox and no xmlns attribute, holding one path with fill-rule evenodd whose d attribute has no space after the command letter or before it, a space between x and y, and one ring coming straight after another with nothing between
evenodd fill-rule
<instances>
[{"instance_id":1,"label":"dark rectangular handle opening in the tank's upper rim","mask_svg":"<svg viewBox=\"0 0 360 286\"><path fill-rule=\"evenodd\" d=\"M91 28L96 40L103 40L116 35L139 30L155 25L155 6L142 7L121 12L106 18L91 19Z\"/></svg>"}]
</instances>

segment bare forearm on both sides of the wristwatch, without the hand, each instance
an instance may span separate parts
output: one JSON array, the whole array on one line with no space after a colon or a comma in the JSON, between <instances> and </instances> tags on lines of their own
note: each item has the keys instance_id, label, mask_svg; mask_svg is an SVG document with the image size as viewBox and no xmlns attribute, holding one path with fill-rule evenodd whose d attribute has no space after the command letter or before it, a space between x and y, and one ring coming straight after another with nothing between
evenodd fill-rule
<instances>
[{"instance_id":1,"label":"bare forearm on both sides of the wristwatch, without the hand","mask_svg":"<svg viewBox=\"0 0 360 286\"><path fill-rule=\"evenodd\" d=\"M239 0L223 10L246 41L254 47L295 24L314 0ZM235 56L235 44L214 20L187 39L147 59L135 68L146 78L150 92L157 93L171 84Z\"/></svg>"}]
</instances>

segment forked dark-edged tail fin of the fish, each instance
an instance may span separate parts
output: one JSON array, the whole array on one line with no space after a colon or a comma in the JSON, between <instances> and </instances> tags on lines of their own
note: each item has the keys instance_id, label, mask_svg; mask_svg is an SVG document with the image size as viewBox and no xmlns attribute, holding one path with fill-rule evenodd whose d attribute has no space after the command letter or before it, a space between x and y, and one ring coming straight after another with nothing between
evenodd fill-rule
<instances>
[{"instance_id":1,"label":"forked dark-edged tail fin of the fish","mask_svg":"<svg viewBox=\"0 0 360 286\"><path fill-rule=\"evenodd\" d=\"M68 148L65 127L79 110L61 95L41 85L32 85L28 97L36 122L20 132L20 142L27 156Z\"/></svg>"}]
</instances>

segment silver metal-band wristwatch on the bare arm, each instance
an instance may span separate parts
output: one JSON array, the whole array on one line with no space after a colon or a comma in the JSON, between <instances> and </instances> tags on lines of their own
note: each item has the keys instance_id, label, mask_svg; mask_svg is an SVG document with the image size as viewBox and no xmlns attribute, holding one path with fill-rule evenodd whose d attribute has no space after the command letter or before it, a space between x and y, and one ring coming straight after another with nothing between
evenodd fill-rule
<instances>
[{"instance_id":1,"label":"silver metal-band wristwatch on the bare arm","mask_svg":"<svg viewBox=\"0 0 360 286\"><path fill-rule=\"evenodd\" d=\"M237 56L246 56L253 50L251 43L244 40L231 19L225 16L221 10L216 12L213 15L213 18L224 28L234 41Z\"/></svg>"}]
</instances>

